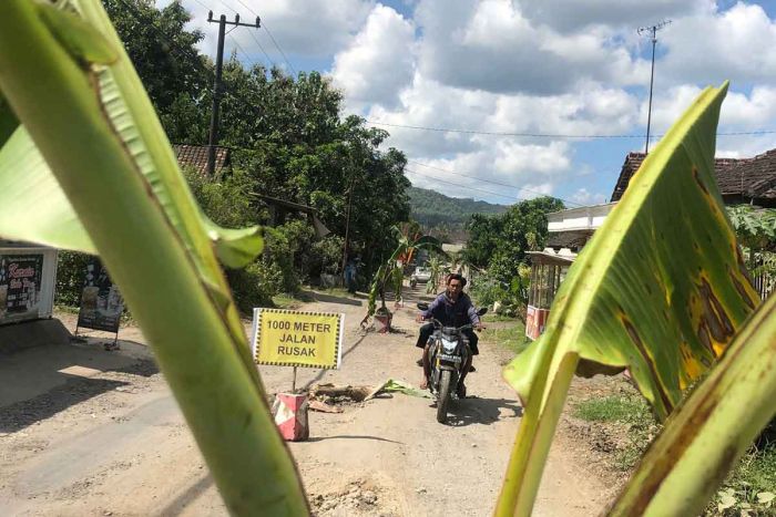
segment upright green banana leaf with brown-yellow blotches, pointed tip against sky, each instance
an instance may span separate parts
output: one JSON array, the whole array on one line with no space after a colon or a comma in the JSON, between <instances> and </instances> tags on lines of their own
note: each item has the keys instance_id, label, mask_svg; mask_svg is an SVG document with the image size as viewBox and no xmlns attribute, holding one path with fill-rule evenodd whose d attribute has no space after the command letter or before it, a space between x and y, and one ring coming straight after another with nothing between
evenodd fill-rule
<instances>
[{"instance_id":1,"label":"upright green banana leaf with brown-yellow blotches, pointed tip against sky","mask_svg":"<svg viewBox=\"0 0 776 517\"><path fill-rule=\"evenodd\" d=\"M759 302L714 179L709 87L644 161L580 254L547 331L504 370L525 402L497 513L528 515L575 371L629 369L660 418Z\"/></svg>"}]
</instances>

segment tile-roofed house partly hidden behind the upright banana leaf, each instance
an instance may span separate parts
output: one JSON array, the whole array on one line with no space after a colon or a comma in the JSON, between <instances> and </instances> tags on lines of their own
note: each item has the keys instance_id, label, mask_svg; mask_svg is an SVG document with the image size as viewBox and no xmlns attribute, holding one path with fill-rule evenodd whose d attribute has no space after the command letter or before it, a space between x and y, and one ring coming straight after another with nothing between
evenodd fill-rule
<instances>
[{"instance_id":1,"label":"tile-roofed house partly hidden behind the upright banana leaf","mask_svg":"<svg viewBox=\"0 0 776 517\"><path fill-rule=\"evenodd\" d=\"M565 272L622 198L645 157L644 153L637 152L625 156L610 203L548 214L550 236L547 247L529 254L531 290L525 318L527 337L537 339L544 330L550 307ZM726 206L746 204L776 207L776 149L752 158L715 158L714 173ZM760 289L760 293L765 292Z\"/></svg>"}]
</instances>

